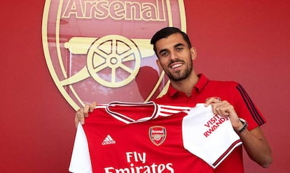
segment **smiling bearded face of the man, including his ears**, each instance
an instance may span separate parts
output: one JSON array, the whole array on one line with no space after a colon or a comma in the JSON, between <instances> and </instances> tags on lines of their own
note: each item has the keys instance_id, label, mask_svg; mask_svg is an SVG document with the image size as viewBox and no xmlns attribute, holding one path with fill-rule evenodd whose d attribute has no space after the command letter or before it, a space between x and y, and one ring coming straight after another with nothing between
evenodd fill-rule
<instances>
[{"instance_id":1,"label":"smiling bearded face of the man, including his ears","mask_svg":"<svg viewBox=\"0 0 290 173\"><path fill-rule=\"evenodd\" d=\"M188 47L180 33L158 40L156 50L158 66L163 68L170 80L180 81L191 75L195 50Z\"/></svg>"}]
</instances>

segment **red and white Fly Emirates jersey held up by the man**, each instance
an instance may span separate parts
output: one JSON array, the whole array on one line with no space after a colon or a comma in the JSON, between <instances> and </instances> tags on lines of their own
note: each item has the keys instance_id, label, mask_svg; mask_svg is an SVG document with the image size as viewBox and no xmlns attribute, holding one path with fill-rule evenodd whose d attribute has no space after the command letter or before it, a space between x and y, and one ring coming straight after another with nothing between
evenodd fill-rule
<instances>
[{"instance_id":1,"label":"red and white Fly Emirates jersey held up by the man","mask_svg":"<svg viewBox=\"0 0 290 173\"><path fill-rule=\"evenodd\" d=\"M191 124L200 117L202 126ZM223 128L226 124L231 128L230 121L218 118L204 104L194 108L153 102L99 106L84 126L78 125L69 171L213 172L212 167L240 144L233 128ZM235 138L228 138L229 133Z\"/></svg>"}]
</instances>

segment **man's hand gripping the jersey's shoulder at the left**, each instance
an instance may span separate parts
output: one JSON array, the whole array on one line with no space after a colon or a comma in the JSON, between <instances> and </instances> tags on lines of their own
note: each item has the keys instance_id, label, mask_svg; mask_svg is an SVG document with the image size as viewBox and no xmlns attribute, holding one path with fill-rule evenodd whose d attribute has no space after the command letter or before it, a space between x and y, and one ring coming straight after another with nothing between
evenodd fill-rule
<instances>
[{"instance_id":1,"label":"man's hand gripping the jersey's shoulder at the left","mask_svg":"<svg viewBox=\"0 0 290 173\"><path fill-rule=\"evenodd\" d=\"M85 124L85 118L88 117L88 112L92 112L95 107L97 106L96 102L89 104L85 104L84 108L79 109L76 111L76 117L74 118L74 123L76 127L78 127L78 123Z\"/></svg>"}]
</instances>

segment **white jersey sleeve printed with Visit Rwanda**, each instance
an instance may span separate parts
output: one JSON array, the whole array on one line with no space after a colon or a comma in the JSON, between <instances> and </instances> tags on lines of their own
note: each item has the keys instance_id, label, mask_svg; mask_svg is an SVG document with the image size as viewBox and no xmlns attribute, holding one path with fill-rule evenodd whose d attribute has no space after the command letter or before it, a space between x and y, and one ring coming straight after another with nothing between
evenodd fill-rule
<instances>
[{"instance_id":1,"label":"white jersey sleeve printed with Visit Rwanda","mask_svg":"<svg viewBox=\"0 0 290 173\"><path fill-rule=\"evenodd\" d=\"M182 121L184 148L216 168L242 144L227 117L212 113L212 107L198 104Z\"/></svg>"}]
</instances>

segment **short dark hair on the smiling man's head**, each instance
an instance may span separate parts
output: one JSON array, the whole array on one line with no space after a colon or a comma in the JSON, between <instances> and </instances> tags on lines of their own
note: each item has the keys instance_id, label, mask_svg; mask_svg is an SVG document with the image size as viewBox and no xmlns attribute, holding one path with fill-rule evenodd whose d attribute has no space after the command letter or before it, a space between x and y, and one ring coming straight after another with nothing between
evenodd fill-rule
<instances>
[{"instance_id":1,"label":"short dark hair on the smiling man's head","mask_svg":"<svg viewBox=\"0 0 290 173\"><path fill-rule=\"evenodd\" d=\"M187 34L184 33L184 31L181 31L180 29L175 28L175 27L165 27L157 31L154 34L154 36L151 38L151 45L153 45L153 50L156 53L156 55L157 55L156 42L162 38L167 38L168 36L171 36L174 33L180 33L182 37L184 38L184 40L186 41L186 43L188 44L188 47L191 48L191 41L189 40Z\"/></svg>"}]
</instances>

